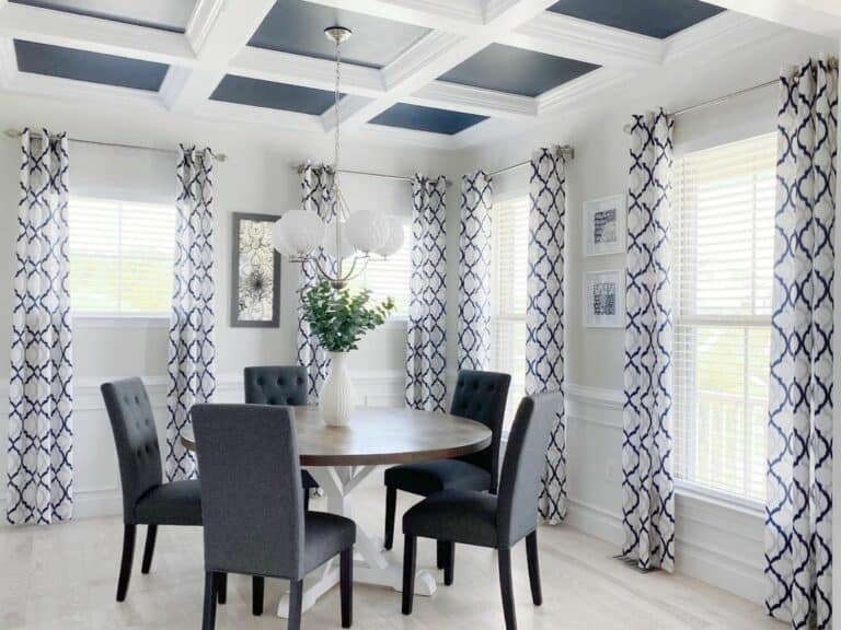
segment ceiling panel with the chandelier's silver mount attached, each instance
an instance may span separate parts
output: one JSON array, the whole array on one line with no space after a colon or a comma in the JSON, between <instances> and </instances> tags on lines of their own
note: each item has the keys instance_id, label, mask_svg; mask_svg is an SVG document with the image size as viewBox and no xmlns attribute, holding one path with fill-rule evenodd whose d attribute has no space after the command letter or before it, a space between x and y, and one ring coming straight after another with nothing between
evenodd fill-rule
<instances>
[{"instance_id":1,"label":"ceiling panel with the chandelier's silver mount attached","mask_svg":"<svg viewBox=\"0 0 841 630\"><path fill-rule=\"evenodd\" d=\"M348 63L382 68L412 46L429 30L301 0L278 0L268 12L249 46L281 52L333 59L335 45L324 36L327 26L342 25L354 34L342 44Z\"/></svg>"}]
</instances>

